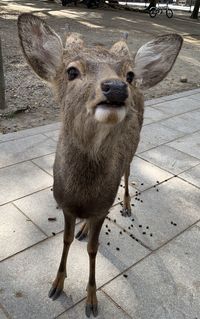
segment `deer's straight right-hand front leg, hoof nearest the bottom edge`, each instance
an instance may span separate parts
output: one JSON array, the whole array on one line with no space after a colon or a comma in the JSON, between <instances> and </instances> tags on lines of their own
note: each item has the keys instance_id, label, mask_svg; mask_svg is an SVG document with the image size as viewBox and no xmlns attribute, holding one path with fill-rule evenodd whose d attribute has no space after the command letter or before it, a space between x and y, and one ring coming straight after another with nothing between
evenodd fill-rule
<instances>
[{"instance_id":1,"label":"deer's straight right-hand front leg, hoof nearest the bottom edge","mask_svg":"<svg viewBox=\"0 0 200 319\"><path fill-rule=\"evenodd\" d=\"M90 259L90 270L89 270L89 281L87 285L87 300L85 313L87 317L90 317L91 312L94 317L98 315L97 309L97 296L96 296L96 279L95 279L95 264L96 264L96 254L99 245L99 233L101 231L102 224L105 217L102 219L90 219L88 221L89 225L89 239L87 245L87 251Z\"/></svg>"}]
</instances>

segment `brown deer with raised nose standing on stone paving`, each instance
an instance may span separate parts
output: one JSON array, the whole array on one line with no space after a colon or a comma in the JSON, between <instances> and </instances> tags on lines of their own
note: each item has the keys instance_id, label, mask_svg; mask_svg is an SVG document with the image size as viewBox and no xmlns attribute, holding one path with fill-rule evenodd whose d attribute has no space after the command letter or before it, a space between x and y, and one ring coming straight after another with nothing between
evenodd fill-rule
<instances>
[{"instance_id":1,"label":"brown deer with raised nose standing on stone paving","mask_svg":"<svg viewBox=\"0 0 200 319\"><path fill-rule=\"evenodd\" d=\"M135 54L125 38L106 48L86 45L72 32L63 43L44 20L29 13L18 17L18 33L28 64L50 85L61 108L53 194L65 226L62 257L49 297L55 300L63 291L74 237L88 236L85 314L96 317L99 234L123 176L123 215L131 215L128 179L143 123L142 92L166 77L183 39L178 34L160 35ZM76 218L84 223L75 236Z\"/></svg>"}]
</instances>

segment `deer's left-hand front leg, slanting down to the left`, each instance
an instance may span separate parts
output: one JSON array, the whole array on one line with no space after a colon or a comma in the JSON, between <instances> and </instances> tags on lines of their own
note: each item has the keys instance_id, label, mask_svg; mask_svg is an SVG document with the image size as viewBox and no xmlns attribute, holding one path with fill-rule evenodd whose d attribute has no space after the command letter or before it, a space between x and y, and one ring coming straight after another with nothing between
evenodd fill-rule
<instances>
[{"instance_id":1,"label":"deer's left-hand front leg, slanting down to the left","mask_svg":"<svg viewBox=\"0 0 200 319\"><path fill-rule=\"evenodd\" d=\"M63 252L60 261L60 266L58 268L57 276L52 284L52 287L49 291L49 298L52 300L57 299L61 292L63 291L64 280L67 277L66 272L66 262L67 262L67 255L69 252L70 245L74 239L74 229L75 229L75 221L76 218L69 213L64 213L65 219L65 230L64 230L64 238L63 238Z\"/></svg>"}]
</instances>

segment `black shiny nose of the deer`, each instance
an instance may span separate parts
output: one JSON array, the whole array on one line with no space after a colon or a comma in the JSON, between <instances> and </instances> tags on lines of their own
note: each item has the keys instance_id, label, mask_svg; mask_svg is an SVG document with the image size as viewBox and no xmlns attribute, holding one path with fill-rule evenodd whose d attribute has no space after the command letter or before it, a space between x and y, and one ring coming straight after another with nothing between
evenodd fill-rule
<instances>
[{"instance_id":1,"label":"black shiny nose of the deer","mask_svg":"<svg viewBox=\"0 0 200 319\"><path fill-rule=\"evenodd\" d=\"M128 97L127 84L120 80L102 82L101 90L109 103L122 104Z\"/></svg>"}]
</instances>

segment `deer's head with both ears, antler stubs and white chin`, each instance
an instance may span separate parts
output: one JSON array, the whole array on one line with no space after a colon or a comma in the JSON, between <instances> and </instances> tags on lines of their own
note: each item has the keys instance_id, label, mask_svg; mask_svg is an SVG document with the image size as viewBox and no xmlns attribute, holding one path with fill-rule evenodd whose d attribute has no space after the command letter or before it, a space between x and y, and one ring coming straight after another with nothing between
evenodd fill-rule
<instances>
[{"instance_id":1,"label":"deer's head with both ears, antler stubs and white chin","mask_svg":"<svg viewBox=\"0 0 200 319\"><path fill-rule=\"evenodd\" d=\"M177 34L159 36L133 58L125 40L109 50L86 47L77 34L71 34L63 47L60 37L31 14L22 14L18 27L27 61L56 88L71 118L84 114L85 119L110 126L123 121L134 107L136 87L152 87L167 75L182 45Z\"/></svg>"}]
</instances>

